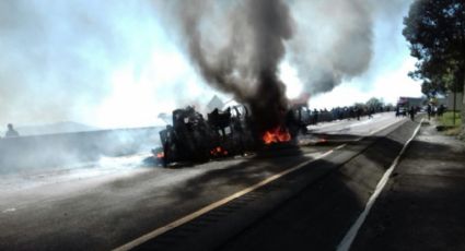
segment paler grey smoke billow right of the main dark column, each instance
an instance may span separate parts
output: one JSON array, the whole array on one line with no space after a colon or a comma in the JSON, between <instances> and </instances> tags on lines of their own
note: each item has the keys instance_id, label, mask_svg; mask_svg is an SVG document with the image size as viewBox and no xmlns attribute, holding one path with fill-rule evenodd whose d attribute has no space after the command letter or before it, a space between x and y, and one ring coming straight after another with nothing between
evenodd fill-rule
<instances>
[{"instance_id":1,"label":"paler grey smoke billow right of the main dark column","mask_svg":"<svg viewBox=\"0 0 465 251\"><path fill-rule=\"evenodd\" d=\"M372 58L372 10L367 0L298 1L290 62L311 95L363 73Z\"/></svg>"}]
</instances>

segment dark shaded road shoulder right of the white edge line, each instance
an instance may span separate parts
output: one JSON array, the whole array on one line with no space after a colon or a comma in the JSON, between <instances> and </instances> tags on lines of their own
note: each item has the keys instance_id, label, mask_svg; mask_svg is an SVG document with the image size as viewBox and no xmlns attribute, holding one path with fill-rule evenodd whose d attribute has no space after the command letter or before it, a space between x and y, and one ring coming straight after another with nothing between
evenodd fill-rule
<instances>
[{"instance_id":1,"label":"dark shaded road shoulder right of the white edge line","mask_svg":"<svg viewBox=\"0 0 465 251\"><path fill-rule=\"evenodd\" d=\"M351 250L465 250L465 145L422 125Z\"/></svg>"}]
</instances>

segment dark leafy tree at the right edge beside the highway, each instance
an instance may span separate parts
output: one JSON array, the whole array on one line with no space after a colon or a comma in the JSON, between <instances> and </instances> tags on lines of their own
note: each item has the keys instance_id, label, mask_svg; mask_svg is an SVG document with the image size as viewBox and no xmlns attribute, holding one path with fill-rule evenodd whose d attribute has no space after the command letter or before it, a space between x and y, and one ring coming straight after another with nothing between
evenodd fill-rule
<instances>
[{"instance_id":1,"label":"dark leafy tree at the right edge beside the highway","mask_svg":"<svg viewBox=\"0 0 465 251\"><path fill-rule=\"evenodd\" d=\"M417 0L404 19L403 34L410 43L416 70L427 96L465 86L465 1ZM463 119L465 119L462 116Z\"/></svg>"}]
</instances>

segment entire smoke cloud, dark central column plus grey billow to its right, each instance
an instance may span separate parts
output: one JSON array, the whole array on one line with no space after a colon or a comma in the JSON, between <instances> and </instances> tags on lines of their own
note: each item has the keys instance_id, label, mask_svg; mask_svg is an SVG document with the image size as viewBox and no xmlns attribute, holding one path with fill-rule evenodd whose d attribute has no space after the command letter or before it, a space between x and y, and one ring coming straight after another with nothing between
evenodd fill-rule
<instances>
[{"instance_id":1,"label":"entire smoke cloud, dark central column plus grey billow to its right","mask_svg":"<svg viewBox=\"0 0 465 251\"><path fill-rule=\"evenodd\" d=\"M279 124L288 106L278 74L284 56L298 70L303 94L330 92L373 67L375 20L390 33L392 25L383 23L408 7L404 0L166 2L158 2L170 20L165 26L178 28L204 79L247 104L263 129Z\"/></svg>"}]
</instances>

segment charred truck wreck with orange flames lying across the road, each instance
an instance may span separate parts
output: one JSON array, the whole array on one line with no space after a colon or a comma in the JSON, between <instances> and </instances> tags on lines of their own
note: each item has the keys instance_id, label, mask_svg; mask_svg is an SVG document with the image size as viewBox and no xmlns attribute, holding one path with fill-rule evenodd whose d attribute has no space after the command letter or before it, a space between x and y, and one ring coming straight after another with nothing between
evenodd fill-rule
<instances>
[{"instance_id":1,"label":"charred truck wreck with orange flames lying across the road","mask_svg":"<svg viewBox=\"0 0 465 251\"><path fill-rule=\"evenodd\" d=\"M244 105L217 108L207 119L188 106L174 110L172 118L173 123L160 132L162 146L152 150L153 157L163 166L244 155L265 145L290 142L306 133L311 124L306 105L293 105L284 112L281 124L265 132Z\"/></svg>"}]
</instances>

